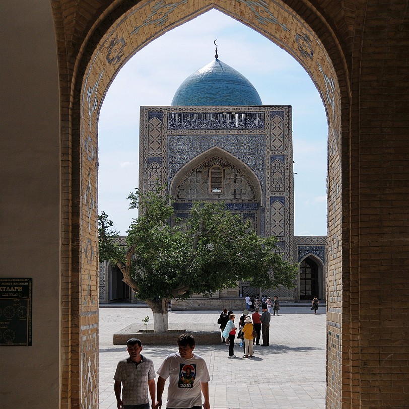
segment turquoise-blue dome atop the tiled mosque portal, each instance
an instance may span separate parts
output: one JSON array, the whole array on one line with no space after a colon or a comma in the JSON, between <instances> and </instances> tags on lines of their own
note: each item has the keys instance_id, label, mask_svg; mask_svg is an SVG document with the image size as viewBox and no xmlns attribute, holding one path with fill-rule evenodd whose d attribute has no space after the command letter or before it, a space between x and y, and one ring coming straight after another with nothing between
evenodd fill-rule
<instances>
[{"instance_id":1,"label":"turquoise-blue dome atop the tiled mosque portal","mask_svg":"<svg viewBox=\"0 0 409 409\"><path fill-rule=\"evenodd\" d=\"M219 59L186 78L177 89L173 106L262 105L250 81Z\"/></svg>"}]
</instances>

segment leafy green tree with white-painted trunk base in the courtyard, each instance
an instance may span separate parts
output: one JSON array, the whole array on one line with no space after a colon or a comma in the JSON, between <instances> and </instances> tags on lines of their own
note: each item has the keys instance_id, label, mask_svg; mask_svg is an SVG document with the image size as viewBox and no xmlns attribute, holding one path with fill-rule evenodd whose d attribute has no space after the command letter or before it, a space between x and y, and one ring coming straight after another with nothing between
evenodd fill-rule
<instances>
[{"instance_id":1,"label":"leafy green tree with white-painted trunk base in the courtyard","mask_svg":"<svg viewBox=\"0 0 409 409\"><path fill-rule=\"evenodd\" d=\"M167 329L172 298L212 295L239 280L262 288L294 287L297 267L277 252L277 239L257 236L223 202L195 202L187 220L169 223L173 208L164 186L147 194L135 189L128 199L130 209L139 208L127 230L129 247L112 244L115 231L104 214L100 229L108 233L100 230L100 260L116 262L124 282L152 309L155 331Z\"/></svg>"}]
</instances>

